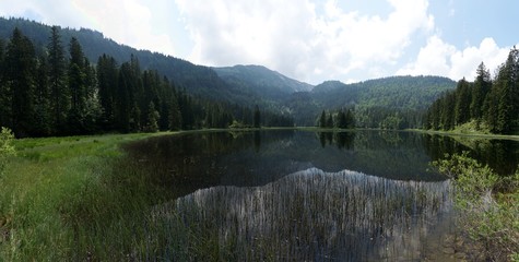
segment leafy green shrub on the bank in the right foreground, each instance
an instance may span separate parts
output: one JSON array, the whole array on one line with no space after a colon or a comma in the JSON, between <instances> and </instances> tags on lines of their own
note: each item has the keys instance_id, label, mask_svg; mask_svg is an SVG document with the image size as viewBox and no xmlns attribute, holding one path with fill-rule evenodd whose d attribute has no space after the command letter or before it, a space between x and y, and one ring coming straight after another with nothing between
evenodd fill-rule
<instances>
[{"instance_id":1,"label":"leafy green shrub on the bank in the right foreground","mask_svg":"<svg viewBox=\"0 0 519 262\"><path fill-rule=\"evenodd\" d=\"M499 177L488 166L455 154L434 163L452 178L461 233L474 240L476 260L519 260L519 169Z\"/></svg>"}]
</instances>

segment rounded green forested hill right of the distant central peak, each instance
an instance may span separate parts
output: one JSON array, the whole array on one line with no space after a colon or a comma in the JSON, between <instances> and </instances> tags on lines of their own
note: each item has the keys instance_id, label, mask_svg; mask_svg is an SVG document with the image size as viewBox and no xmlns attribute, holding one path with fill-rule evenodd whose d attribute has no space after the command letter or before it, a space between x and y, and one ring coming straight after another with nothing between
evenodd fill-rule
<instances>
[{"instance_id":1,"label":"rounded green forested hill right of the distant central peak","mask_svg":"<svg viewBox=\"0 0 519 262\"><path fill-rule=\"evenodd\" d=\"M286 106L295 111L296 122L305 124L317 124L321 110L352 108L356 127L418 128L427 107L455 87L456 82L440 76L392 76L353 84L327 81L315 86L308 96L293 95ZM314 118L308 117L309 111Z\"/></svg>"}]
</instances>

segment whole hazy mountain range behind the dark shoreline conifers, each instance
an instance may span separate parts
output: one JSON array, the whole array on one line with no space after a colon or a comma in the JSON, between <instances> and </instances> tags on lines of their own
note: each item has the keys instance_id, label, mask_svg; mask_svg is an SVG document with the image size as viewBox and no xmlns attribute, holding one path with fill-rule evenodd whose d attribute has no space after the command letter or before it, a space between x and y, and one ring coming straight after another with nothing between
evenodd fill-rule
<instances>
[{"instance_id":1,"label":"whole hazy mountain range behind the dark shoreline conifers","mask_svg":"<svg viewBox=\"0 0 519 262\"><path fill-rule=\"evenodd\" d=\"M17 27L35 45L36 51L46 51L51 27L23 19L0 17L0 40L9 40ZM62 46L68 49L75 37L91 63L106 53L119 64L134 58L142 70L156 70L178 90L209 98L262 110L290 114L299 126L314 126L322 110L354 108L357 123L377 127L384 119L418 116L440 94L456 87L456 82L440 76L391 76L359 83L344 84L327 81L317 86L290 79L261 66L210 68L193 64L172 56L117 44L102 33L91 29L59 28Z\"/></svg>"}]
</instances>

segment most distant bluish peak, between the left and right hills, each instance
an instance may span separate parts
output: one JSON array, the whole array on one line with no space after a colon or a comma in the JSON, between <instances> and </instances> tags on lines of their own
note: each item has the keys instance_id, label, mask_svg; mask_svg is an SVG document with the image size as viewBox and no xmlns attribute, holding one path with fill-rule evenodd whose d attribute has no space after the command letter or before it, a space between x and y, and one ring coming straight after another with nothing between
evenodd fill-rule
<instances>
[{"instance_id":1,"label":"most distant bluish peak, between the left and right hills","mask_svg":"<svg viewBox=\"0 0 519 262\"><path fill-rule=\"evenodd\" d=\"M229 85L273 99L284 98L295 92L310 91L314 87L262 66L235 66L213 70Z\"/></svg>"}]
</instances>

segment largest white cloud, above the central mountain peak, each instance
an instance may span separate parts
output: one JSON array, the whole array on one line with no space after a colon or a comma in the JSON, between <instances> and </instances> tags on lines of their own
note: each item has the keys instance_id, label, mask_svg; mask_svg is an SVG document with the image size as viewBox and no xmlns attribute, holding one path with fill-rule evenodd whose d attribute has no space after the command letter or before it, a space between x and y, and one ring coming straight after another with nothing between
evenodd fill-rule
<instances>
[{"instance_id":1,"label":"largest white cloud, above the central mountain peak","mask_svg":"<svg viewBox=\"0 0 519 262\"><path fill-rule=\"evenodd\" d=\"M194 47L191 60L210 66L259 63L304 81L345 78L354 70L393 66L413 34L429 32L426 0L388 0L387 17L345 11L333 0L176 0ZM320 3L319 3L320 4ZM323 12L317 12L322 8ZM364 78L379 75L365 75Z\"/></svg>"}]
</instances>

